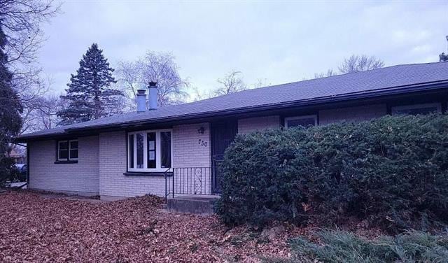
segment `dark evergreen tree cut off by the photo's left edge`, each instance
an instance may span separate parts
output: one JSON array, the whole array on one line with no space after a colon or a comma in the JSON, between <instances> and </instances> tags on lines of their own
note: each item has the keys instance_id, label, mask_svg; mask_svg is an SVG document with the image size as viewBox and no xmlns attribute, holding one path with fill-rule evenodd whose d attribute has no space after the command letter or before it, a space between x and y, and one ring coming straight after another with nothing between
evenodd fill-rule
<instances>
[{"instance_id":1,"label":"dark evergreen tree cut off by the photo's left edge","mask_svg":"<svg viewBox=\"0 0 448 263\"><path fill-rule=\"evenodd\" d=\"M8 57L4 52L6 36L0 21L0 187L12 172L13 159L8 157L10 142L22 127L22 104L11 85L13 74L6 67Z\"/></svg>"}]
</instances>

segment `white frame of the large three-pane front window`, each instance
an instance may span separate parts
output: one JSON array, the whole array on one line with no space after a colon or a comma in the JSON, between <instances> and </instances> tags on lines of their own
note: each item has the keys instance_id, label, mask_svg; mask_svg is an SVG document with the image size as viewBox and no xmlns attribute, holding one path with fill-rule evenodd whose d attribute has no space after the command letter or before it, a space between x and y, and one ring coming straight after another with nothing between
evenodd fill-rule
<instances>
[{"instance_id":1,"label":"white frame of the large three-pane front window","mask_svg":"<svg viewBox=\"0 0 448 263\"><path fill-rule=\"evenodd\" d=\"M126 136L127 140L127 171L137 171L137 172L162 172L167 171L169 168L162 168L162 141L160 134L164 131L171 132L171 169L174 166L173 162L173 130L172 129L148 129L144 131L132 131L128 132ZM155 133L155 168L146 168L148 167L148 133L154 132ZM130 135L134 135L134 168L130 167ZM137 168L137 134L144 134L143 136L143 166L145 168Z\"/></svg>"}]
</instances>

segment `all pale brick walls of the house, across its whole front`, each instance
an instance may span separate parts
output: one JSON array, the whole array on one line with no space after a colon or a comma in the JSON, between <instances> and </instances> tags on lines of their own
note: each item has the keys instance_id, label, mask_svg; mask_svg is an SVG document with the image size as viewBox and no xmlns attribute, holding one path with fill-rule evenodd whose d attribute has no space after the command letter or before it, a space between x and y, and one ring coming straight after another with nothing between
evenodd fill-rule
<instances>
[{"instance_id":1,"label":"all pale brick walls of the house, across its whole front","mask_svg":"<svg viewBox=\"0 0 448 263\"><path fill-rule=\"evenodd\" d=\"M319 122L325 125L341 120L369 120L386 114L386 105L378 104L319 111ZM198 129L204 127L204 134ZM238 120L239 134L280 127L278 115ZM210 167L211 136L209 123L176 125L172 131L175 168ZM34 189L87 194L100 194L102 199L119 199L144 194L165 195L163 176L125 176L127 166L125 131L114 131L79 138L78 164L54 164L55 141L29 143L30 187ZM201 176L199 190L211 192L211 170L193 169L188 173ZM181 174L175 175L176 190L187 184ZM179 179L180 178L180 179ZM191 178L191 177L190 177ZM169 184L171 187L171 184ZM197 185L196 185L197 189ZM177 192L177 191L176 191Z\"/></svg>"}]
</instances>

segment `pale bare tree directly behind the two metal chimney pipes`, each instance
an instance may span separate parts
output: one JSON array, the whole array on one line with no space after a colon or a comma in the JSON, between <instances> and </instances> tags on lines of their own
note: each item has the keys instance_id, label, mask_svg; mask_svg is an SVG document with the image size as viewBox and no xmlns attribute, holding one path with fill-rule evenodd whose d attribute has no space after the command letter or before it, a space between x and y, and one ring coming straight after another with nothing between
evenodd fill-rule
<instances>
[{"instance_id":1,"label":"pale bare tree directly behind the two metal chimney pipes","mask_svg":"<svg viewBox=\"0 0 448 263\"><path fill-rule=\"evenodd\" d=\"M135 109L137 90L145 89L151 81L158 83L159 106L180 104L188 96L185 92L188 80L181 78L179 67L170 53L148 51L145 57L136 62L119 62L116 73L118 85L124 89L127 98L133 101L125 111Z\"/></svg>"}]
</instances>

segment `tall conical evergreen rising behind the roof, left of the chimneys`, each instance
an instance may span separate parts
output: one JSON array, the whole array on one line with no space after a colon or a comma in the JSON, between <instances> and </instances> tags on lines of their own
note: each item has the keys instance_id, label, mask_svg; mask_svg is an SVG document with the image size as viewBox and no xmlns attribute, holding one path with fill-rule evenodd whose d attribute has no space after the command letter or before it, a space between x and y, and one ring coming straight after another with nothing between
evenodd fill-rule
<instances>
[{"instance_id":1,"label":"tall conical evergreen rising behind the roof, left of the chimneys","mask_svg":"<svg viewBox=\"0 0 448 263\"><path fill-rule=\"evenodd\" d=\"M57 113L62 118L59 125L70 125L111 115L111 106L123 92L111 88L116 80L109 62L96 43L87 50L79 62L76 75L71 74L67 94L69 106Z\"/></svg>"}]
</instances>

